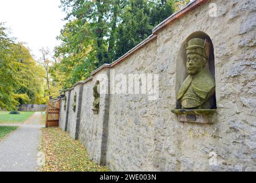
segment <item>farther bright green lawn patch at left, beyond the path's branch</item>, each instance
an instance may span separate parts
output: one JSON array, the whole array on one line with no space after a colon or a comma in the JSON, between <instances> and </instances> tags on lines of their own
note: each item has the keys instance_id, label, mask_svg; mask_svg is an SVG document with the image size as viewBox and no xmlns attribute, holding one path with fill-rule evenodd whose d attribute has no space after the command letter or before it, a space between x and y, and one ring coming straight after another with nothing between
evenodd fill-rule
<instances>
[{"instance_id":1,"label":"farther bright green lawn patch at left, beyond the path's branch","mask_svg":"<svg viewBox=\"0 0 256 183\"><path fill-rule=\"evenodd\" d=\"M0 124L24 122L34 114L34 112L20 113L21 114L9 114L7 111L0 111Z\"/></svg>"}]
</instances>

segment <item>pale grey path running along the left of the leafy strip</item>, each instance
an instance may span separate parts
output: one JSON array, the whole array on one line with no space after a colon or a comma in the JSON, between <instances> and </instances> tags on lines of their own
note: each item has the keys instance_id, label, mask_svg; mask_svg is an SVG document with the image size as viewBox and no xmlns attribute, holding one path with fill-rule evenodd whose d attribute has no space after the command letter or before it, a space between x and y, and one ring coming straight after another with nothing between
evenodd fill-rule
<instances>
[{"instance_id":1,"label":"pale grey path running along the left of the leafy strip","mask_svg":"<svg viewBox=\"0 0 256 183\"><path fill-rule=\"evenodd\" d=\"M0 172L37 171L41 112L36 112L19 129L0 142Z\"/></svg>"}]
</instances>

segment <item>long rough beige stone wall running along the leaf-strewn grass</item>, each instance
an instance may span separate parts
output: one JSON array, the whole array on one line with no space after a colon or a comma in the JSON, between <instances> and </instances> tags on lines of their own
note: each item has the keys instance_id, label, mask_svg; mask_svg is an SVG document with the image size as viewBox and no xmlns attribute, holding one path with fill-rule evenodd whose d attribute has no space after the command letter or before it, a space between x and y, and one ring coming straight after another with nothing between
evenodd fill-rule
<instances>
[{"instance_id":1,"label":"long rough beige stone wall running along the leaf-strewn grass","mask_svg":"<svg viewBox=\"0 0 256 183\"><path fill-rule=\"evenodd\" d=\"M217 17L211 17L215 6ZM73 138L78 134L97 163L113 171L256 170L256 2L194 1L188 7L160 23L135 49L66 91L68 132ZM180 122L171 113L186 74L180 55L188 39L205 36L214 47L216 119L214 124ZM102 74L111 80L113 72L157 74L159 97L101 94L99 114L94 114L93 86ZM78 104L80 86L77 113L72 105L75 92ZM65 115L61 112L62 129Z\"/></svg>"}]
</instances>

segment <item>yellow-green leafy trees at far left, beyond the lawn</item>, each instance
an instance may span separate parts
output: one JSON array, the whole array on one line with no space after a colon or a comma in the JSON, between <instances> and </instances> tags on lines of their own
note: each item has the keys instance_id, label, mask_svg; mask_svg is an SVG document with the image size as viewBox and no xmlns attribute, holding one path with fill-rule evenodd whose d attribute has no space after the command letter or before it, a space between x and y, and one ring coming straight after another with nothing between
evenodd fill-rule
<instances>
[{"instance_id":1,"label":"yellow-green leafy trees at far left, beyond the lawn","mask_svg":"<svg viewBox=\"0 0 256 183\"><path fill-rule=\"evenodd\" d=\"M22 43L15 43L0 23L0 108L16 109L21 104L42 104L44 70Z\"/></svg>"}]
</instances>

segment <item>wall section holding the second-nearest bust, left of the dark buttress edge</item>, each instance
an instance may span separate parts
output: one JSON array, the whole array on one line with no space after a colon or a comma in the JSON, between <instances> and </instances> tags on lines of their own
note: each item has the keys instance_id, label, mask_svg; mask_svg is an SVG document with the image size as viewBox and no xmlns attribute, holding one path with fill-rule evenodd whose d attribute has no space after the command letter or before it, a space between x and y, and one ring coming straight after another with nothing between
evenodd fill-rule
<instances>
[{"instance_id":1,"label":"wall section holding the second-nearest bust, left of the dark buttress edge","mask_svg":"<svg viewBox=\"0 0 256 183\"><path fill-rule=\"evenodd\" d=\"M108 75L108 70L102 70L99 74ZM105 164L107 134L105 126L108 123L108 94L100 96L100 110L98 114L94 114L93 105L93 86L96 83L96 77L90 79L84 85L84 93L82 98L81 121L79 130L79 140L85 145L89 156L98 164Z\"/></svg>"}]
</instances>

